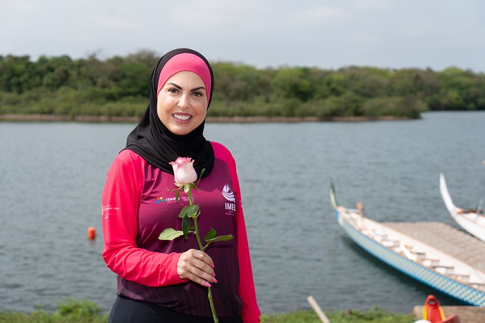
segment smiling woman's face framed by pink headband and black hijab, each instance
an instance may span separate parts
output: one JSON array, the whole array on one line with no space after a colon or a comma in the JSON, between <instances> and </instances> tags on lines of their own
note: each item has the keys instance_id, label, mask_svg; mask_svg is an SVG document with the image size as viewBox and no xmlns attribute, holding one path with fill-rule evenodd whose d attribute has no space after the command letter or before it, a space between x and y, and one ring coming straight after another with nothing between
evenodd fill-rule
<instances>
[{"instance_id":1,"label":"smiling woman's face framed by pink headband and black hijab","mask_svg":"<svg viewBox=\"0 0 485 323\"><path fill-rule=\"evenodd\" d=\"M202 78L191 71L180 71L161 88L157 114L170 132L184 135L204 121L208 102Z\"/></svg>"}]
</instances>

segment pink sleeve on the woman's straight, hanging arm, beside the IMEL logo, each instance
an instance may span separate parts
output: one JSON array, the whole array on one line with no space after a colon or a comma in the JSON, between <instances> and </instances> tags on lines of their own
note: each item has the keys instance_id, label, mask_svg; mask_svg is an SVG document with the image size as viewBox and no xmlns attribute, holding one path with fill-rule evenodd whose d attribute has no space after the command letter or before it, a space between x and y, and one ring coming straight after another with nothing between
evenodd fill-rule
<instances>
[{"instance_id":1,"label":"pink sleeve on the woman's straight, hanging arm, beside the IMEL logo","mask_svg":"<svg viewBox=\"0 0 485 323\"><path fill-rule=\"evenodd\" d=\"M225 150L225 152L227 152L227 156L224 157L224 160L226 160L227 164L229 165L233 188L239 197L237 238L240 273L238 294L243 301L243 311L241 316L243 317L243 322L245 323L261 322L261 311L259 310L258 303L256 302L256 290L254 288L253 270L251 266L251 256L249 255L249 243L247 241L243 205L240 198L241 195L238 174L236 172L236 161L234 161L231 153L229 150L224 148L224 146L213 143L213 148L215 153L220 152L220 150Z\"/></svg>"}]
</instances>

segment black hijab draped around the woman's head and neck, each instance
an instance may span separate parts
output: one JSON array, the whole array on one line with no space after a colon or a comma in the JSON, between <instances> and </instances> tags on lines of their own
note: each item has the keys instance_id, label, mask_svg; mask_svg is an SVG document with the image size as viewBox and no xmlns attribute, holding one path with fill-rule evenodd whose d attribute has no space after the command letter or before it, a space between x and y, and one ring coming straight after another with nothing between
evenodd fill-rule
<instances>
[{"instance_id":1,"label":"black hijab draped around the woman's head and neck","mask_svg":"<svg viewBox=\"0 0 485 323\"><path fill-rule=\"evenodd\" d=\"M214 151L211 143L204 138L204 121L192 132L184 135L173 134L162 123L157 114L157 87L161 69L173 56L180 53L192 53L204 60L211 72L211 93L207 107L211 104L213 92L213 72L209 62L202 54L192 49L174 49L163 55L152 72L150 103L146 108L136 128L127 137L125 149L133 150L148 163L162 171L173 174L170 161L177 157L191 157L195 160L194 168L200 176L205 168L203 177L209 175L214 166Z\"/></svg>"}]
</instances>

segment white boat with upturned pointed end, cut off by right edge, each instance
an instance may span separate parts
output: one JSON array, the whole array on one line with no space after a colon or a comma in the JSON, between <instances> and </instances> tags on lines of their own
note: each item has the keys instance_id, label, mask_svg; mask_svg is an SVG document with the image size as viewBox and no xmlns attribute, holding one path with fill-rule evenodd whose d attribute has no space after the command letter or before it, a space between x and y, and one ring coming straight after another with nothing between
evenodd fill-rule
<instances>
[{"instance_id":1,"label":"white boat with upturned pointed end, cut off by right edge","mask_svg":"<svg viewBox=\"0 0 485 323\"><path fill-rule=\"evenodd\" d=\"M482 214L482 204L484 200L482 199L475 210L466 210L456 207L453 204L453 200L446 186L446 180L443 173L439 174L439 191L441 192L441 197L445 202L446 209L450 212L452 218L466 230L469 234L476 236L480 240L485 242L485 216Z\"/></svg>"}]
</instances>

